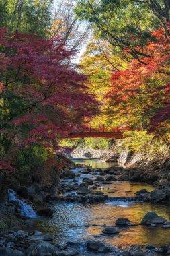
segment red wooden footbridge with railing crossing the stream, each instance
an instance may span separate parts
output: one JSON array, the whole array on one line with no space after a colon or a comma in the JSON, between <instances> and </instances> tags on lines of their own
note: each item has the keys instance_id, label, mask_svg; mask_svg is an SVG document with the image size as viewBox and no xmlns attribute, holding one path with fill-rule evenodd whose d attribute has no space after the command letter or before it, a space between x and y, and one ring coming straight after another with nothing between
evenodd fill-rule
<instances>
[{"instance_id":1,"label":"red wooden footbridge with railing crossing the stream","mask_svg":"<svg viewBox=\"0 0 170 256\"><path fill-rule=\"evenodd\" d=\"M105 138L123 138L124 131L132 130L131 127L85 127L83 131L75 131L67 135L68 139L86 138L86 137L105 137Z\"/></svg>"}]
</instances>

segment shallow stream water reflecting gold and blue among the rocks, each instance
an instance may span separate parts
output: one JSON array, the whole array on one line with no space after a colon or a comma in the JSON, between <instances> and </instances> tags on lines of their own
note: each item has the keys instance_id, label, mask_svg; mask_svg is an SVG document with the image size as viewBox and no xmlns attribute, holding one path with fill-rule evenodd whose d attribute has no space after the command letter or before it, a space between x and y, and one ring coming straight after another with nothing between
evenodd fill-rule
<instances>
[{"instance_id":1,"label":"shallow stream water reflecting gold and blue among the rocks","mask_svg":"<svg viewBox=\"0 0 170 256\"><path fill-rule=\"evenodd\" d=\"M89 164L86 161L83 163ZM97 163L94 162L92 166L93 168L96 168L96 166L97 168L99 166L100 168L107 168L108 164L99 161ZM79 172L79 168L75 168L74 172ZM85 176L87 177L84 174ZM129 183L128 181L115 181L111 185L105 186L107 186L105 189L109 187L110 191L112 191L112 193L108 193L110 197L129 197L134 196L134 192L139 189L147 189L148 191L154 189L150 185ZM142 217L150 211L154 211L170 220L170 206L165 203L150 204L109 200L95 204L58 203L54 205L54 218L40 218L36 219L35 222L37 230L55 235L57 243L98 239L110 245L115 245L118 248L131 245L152 244L157 247L166 245L170 242L170 229L165 230L161 226L140 225ZM114 225L115 221L120 217L126 217L130 220L131 224L138 225L119 228L120 233L116 236L101 235L103 225Z\"/></svg>"}]
</instances>

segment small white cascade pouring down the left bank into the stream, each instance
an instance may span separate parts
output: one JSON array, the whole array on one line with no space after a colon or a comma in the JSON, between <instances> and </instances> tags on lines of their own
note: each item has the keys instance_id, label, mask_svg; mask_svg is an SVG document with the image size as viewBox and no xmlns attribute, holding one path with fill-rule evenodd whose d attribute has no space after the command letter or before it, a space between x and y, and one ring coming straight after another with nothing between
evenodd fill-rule
<instances>
[{"instance_id":1,"label":"small white cascade pouring down the left bank into the stream","mask_svg":"<svg viewBox=\"0 0 170 256\"><path fill-rule=\"evenodd\" d=\"M15 191L13 191L12 189L9 189L8 190L8 197L9 197L9 201L17 202L20 214L22 216L26 216L28 218L35 218L36 217L36 212L32 209L32 207L30 205L24 203L24 201L18 199L17 194L15 193Z\"/></svg>"}]
</instances>

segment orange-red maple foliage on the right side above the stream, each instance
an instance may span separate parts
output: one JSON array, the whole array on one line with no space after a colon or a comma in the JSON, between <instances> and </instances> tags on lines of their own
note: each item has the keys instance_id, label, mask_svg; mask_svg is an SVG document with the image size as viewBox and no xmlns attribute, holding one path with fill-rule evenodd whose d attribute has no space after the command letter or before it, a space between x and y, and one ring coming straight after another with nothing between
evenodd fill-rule
<instances>
[{"instance_id":1,"label":"orange-red maple foliage on the right side above the stream","mask_svg":"<svg viewBox=\"0 0 170 256\"><path fill-rule=\"evenodd\" d=\"M151 36L144 49L148 57L134 59L126 70L112 74L107 98L113 115L122 118L122 123L163 133L169 129L170 119L170 38L163 29Z\"/></svg>"}]
</instances>

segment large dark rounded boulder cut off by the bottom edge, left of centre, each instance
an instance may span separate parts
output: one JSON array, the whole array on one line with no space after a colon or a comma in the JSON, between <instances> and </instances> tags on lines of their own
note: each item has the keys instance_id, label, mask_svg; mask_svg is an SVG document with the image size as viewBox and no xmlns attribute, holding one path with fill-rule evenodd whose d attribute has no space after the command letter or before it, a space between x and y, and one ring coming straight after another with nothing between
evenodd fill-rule
<instances>
[{"instance_id":1,"label":"large dark rounded boulder cut off by the bottom edge, left of centre","mask_svg":"<svg viewBox=\"0 0 170 256\"><path fill-rule=\"evenodd\" d=\"M60 250L54 245L44 241L37 241L33 245L30 245L27 249L27 256L46 256L50 253L60 253Z\"/></svg>"}]
</instances>

